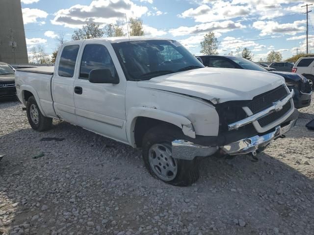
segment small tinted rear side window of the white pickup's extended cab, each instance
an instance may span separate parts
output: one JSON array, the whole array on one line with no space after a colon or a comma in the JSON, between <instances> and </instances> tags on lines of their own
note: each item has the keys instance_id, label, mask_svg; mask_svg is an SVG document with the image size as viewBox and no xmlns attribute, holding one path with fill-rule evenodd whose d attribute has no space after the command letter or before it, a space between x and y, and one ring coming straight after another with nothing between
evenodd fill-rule
<instances>
[{"instance_id":1,"label":"small tinted rear side window of the white pickup's extended cab","mask_svg":"<svg viewBox=\"0 0 314 235\"><path fill-rule=\"evenodd\" d=\"M58 74L61 77L73 77L75 64L78 57L78 45L66 46L63 48Z\"/></svg>"}]
</instances>

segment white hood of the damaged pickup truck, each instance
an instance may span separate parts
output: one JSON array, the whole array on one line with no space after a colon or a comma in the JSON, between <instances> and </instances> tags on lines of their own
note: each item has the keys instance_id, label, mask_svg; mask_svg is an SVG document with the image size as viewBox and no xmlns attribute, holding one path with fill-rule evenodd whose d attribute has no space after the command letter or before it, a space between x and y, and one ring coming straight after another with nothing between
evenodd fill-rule
<instances>
[{"instance_id":1,"label":"white hood of the damaged pickup truck","mask_svg":"<svg viewBox=\"0 0 314 235\"><path fill-rule=\"evenodd\" d=\"M283 84L285 79L277 74L225 68L201 68L137 82L139 87L191 95L213 104L252 100Z\"/></svg>"}]
</instances>

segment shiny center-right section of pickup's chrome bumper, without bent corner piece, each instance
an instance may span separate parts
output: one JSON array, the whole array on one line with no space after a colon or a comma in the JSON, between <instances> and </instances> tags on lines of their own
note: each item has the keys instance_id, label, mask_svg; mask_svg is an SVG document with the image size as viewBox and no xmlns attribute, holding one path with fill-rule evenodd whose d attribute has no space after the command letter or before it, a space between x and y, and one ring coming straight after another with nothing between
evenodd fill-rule
<instances>
[{"instance_id":1,"label":"shiny center-right section of pickup's chrome bumper, without bent corner piece","mask_svg":"<svg viewBox=\"0 0 314 235\"><path fill-rule=\"evenodd\" d=\"M292 127L294 127L296 119L290 121L286 126L277 126L273 132L270 132L263 136L253 136L240 141L236 141L225 146L221 149L229 155L239 155L253 153L261 147L266 147L268 143L276 138L279 138L286 132L288 132Z\"/></svg>"}]
</instances>

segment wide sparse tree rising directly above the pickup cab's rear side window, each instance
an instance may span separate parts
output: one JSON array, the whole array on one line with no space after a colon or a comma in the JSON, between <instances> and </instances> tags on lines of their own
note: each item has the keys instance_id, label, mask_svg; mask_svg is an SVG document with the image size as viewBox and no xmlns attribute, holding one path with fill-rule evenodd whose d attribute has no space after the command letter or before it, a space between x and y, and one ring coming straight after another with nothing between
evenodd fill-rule
<instances>
[{"instance_id":1,"label":"wide sparse tree rising directly above the pickup cab's rear side window","mask_svg":"<svg viewBox=\"0 0 314 235\"><path fill-rule=\"evenodd\" d=\"M75 30L72 35L72 40L90 39L90 38L101 38L105 31L100 28L99 24L86 24L82 28Z\"/></svg>"}]
</instances>

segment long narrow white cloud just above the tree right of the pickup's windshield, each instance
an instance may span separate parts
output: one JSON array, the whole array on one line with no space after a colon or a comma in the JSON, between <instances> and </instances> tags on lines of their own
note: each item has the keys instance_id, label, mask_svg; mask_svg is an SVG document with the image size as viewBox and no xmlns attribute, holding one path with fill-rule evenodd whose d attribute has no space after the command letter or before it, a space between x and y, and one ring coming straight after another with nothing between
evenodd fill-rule
<instances>
[{"instance_id":1,"label":"long narrow white cloud just above the tree right of the pickup's windshield","mask_svg":"<svg viewBox=\"0 0 314 235\"><path fill-rule=\"evenodd\" d=\"M218 31L219 33L225 33L234 29L245 28L241 23L235 23L233 21L223 22L210 22L205 24L197 24L191 27L180 26L179 28L171 29L169 32L173 36L183 36L188 34L200 34L207 33L209 31Z\"/></svg>"}]
</instances>

